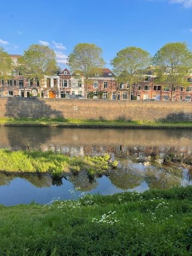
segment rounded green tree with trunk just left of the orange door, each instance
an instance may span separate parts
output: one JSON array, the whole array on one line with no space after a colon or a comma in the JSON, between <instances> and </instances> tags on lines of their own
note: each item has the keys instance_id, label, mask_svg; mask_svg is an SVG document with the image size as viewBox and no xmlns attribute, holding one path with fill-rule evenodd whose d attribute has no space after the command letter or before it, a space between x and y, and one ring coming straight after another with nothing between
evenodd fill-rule
<instances>
[{"instance_id":1,"label":"rounded green tree with trunk just left of the orange door","mask_svg":"<svg viewBox=\"0 0 192 256\"><path fill-rule=\"evenodd\" d=\"M55 52L45 45L33 44L18 58L20 70L25 77L36 78L39 81L39 95L41 97L41 81L44 75L57 73Z\"/></svg>"}]
</instances>

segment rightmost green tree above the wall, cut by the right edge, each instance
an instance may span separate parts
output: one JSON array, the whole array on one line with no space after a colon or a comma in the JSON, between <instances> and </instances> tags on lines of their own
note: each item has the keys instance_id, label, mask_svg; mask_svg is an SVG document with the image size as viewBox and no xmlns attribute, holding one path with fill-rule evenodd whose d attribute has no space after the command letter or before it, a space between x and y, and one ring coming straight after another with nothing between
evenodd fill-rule
<instances>
[{"instance_id":1,"label":"rightmost green tree above the wall, cut by the right edge","mask_svg":"<svg viewBox=\"0 0 192 256\"><path fill-rule=\"evenodd\" d=\"M186 85L189 69L192 67L192 53L185 42L167 43L153 58L155 73L163 84L169 82L171 100L179 85ZM166 83L167 84L167 83Z\"/></svg>"}]
</instances>

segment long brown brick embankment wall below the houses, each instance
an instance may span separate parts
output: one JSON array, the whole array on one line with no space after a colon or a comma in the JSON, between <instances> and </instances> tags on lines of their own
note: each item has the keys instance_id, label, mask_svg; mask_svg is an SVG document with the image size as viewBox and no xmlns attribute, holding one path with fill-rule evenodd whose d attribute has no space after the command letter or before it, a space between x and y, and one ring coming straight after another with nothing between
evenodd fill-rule
<instances>
[{"instance_id":1,"label":"long brown brick embankment wall below the houses","mask_svg":"<svg viewBox=\"0 0 192 256\"><path fill-rule=\"evenodd\" d=\"M192 102L0 98L0 117L192 121Z\"/></svg>"}]
</instances>

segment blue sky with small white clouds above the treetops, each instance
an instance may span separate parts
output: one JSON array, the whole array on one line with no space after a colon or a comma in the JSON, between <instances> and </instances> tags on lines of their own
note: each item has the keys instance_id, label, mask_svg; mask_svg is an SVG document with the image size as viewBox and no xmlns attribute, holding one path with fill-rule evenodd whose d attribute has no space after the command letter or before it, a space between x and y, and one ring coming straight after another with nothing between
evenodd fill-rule
<instances>
[{"instance_id":1,"label":"blue sky with small white clouds above the treetops","mask_svg":"<svg viewBox=\"0 0 192 256\"><path fill-rule=\"evenodd\" d=\"M22 54L30 44L54 49L61 67L77 43L95 43L110 67L116 52L154 54L167 42L192 48L192 0L1 0L0 46Z\"/></svg>"}]
</instances>

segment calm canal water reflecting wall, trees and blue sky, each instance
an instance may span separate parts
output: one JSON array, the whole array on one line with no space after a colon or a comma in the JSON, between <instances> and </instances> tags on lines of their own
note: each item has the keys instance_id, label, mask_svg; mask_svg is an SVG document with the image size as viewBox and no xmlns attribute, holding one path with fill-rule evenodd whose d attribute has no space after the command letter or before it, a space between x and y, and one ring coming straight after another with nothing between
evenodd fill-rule
<instances>
[{"instance_id":1,"label":"calm canal water reflecting wall, trees and blue sky","mask_svg":"<svg viewBox=\"0 0 192 256\"><path fill-rule=\"evenodd\" d=\"M192 171L164 165L166 154L192 154L190 130L69 129L63 127L0 127L0 148L57 151L69 156L103 155L118 160L109 176L89 180L85 174L52 180L48 175L0 173L0 204L49 203L52 198L70 199L82 191L110 195L121 191L192 185Z\"/></svg>"}]
</instances>

